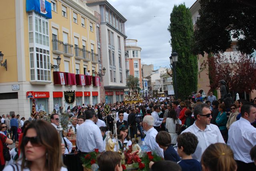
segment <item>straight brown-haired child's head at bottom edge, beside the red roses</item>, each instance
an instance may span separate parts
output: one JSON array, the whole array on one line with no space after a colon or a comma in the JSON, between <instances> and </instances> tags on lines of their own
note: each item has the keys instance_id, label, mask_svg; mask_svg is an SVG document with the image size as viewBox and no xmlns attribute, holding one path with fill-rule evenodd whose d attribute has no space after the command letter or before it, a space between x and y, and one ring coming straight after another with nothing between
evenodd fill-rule
<instances>
[{"instance_id":1,"label":"straight brown-haired child's head at bottom edge, beside the red roses","mask_svg":"<svg viewBox=\"0 0 256 171\"><path fill-rule=\"evenodd\" d=\"M121 155L114 151L106 151L97 156L100 171L122 171Z\"/></svg>"}]
</instances>

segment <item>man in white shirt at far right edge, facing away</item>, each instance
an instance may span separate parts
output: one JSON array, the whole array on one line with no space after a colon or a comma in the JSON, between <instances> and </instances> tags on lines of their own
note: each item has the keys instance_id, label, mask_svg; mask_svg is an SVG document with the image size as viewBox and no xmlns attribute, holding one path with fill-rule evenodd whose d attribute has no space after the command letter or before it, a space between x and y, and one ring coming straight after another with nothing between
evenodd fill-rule
<instances>
[{"instance_id":1,"label":"man in white shirt at far right edge, facing away","mask_svg":"<svg viewBox=\"0 0 256 171\"><path fill-rule=\"evenodd\" d=\"M241 107L242 117L235 121L228 130L228 145L234 153L234 159L240 170L256 170L250 149L256 145L256 128L251 125L256 119L256 108L251 104Z\"/></svg>"}]
</instances>

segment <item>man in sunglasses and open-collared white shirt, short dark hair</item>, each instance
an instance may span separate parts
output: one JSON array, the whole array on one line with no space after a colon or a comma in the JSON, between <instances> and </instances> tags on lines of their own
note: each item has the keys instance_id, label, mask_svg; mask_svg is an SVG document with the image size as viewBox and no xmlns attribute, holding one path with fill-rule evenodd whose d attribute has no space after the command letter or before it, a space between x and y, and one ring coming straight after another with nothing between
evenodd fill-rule
<instances>
[{"instance_id":1,"label":"man in sunglasses and open-collared white shirt, short dark hair","mask_svg":"<svg viewBox=\"0 0 256 171\"><path fill-rule=\"evenodd\" d=\"M198 145L195 153L192 154L193 159L201 161L204 150L214 143L225 143L218 126L211 124L211 111L207 104L202 103L194 108L194 118L196 121L193 125L182 131L191 132L198 138Z\"/></svg>"}]
</instances>

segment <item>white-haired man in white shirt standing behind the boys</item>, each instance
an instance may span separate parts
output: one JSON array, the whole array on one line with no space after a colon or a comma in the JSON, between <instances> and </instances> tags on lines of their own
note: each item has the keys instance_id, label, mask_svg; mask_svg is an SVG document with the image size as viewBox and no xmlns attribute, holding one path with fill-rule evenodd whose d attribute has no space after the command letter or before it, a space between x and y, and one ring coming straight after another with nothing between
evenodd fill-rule
<instances>
[{"instance_id":1,"label":"white-haired man in white shirt standing behind the boys","mask_svg":"<svg viewBox=\"0 0 256 171\"><path fill-rule=\"evenodd\" d=\"M146 131L146 137L144 138L145 144L151 151L156 152L157 155L164 158L164 151L156 143L156 135L158 131L154 129L154 118L150 115L146 115L142 121L143 129Z\"/></svg>"}]
</instances>

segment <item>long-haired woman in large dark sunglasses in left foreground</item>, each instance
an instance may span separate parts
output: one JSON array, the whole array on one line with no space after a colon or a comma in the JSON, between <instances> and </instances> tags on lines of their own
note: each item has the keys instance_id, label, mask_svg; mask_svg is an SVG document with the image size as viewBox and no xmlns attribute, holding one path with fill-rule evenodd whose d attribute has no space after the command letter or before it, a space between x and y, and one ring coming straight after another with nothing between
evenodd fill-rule
<instances>
[{"instance_id":1,"label":"long-haired woman in large dark sunglasses in left foreground","mask_svg":"<svg viewBox=\"0 0 256 171\"><path fill-rule=\"evenodd\" d=\"M24 131L20 150L22 157L4 171L67 171L63 167L57 130L44 120L37 120Z\"/></svg>"}]
</instances>

